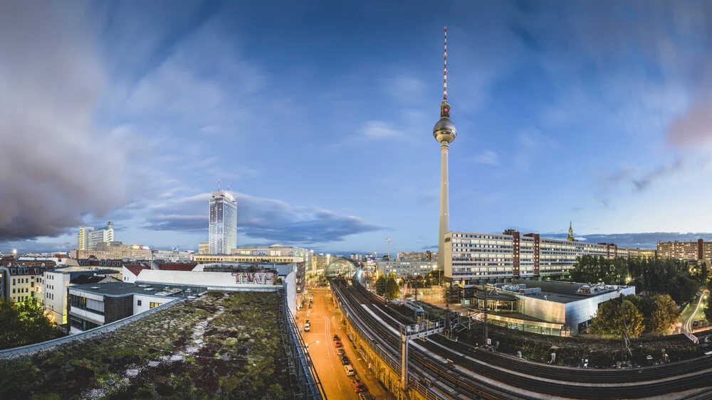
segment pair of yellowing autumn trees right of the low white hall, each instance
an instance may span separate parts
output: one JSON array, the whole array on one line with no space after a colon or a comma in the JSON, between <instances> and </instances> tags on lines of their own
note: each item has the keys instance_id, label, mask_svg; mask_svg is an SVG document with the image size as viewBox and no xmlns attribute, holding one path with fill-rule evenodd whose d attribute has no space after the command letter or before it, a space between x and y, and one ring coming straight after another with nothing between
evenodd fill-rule
<instances>
[{"instance_id":1,"label":"pair of yellowing autumn trees right of the low white hall","mask_svg":"<svg viewBox=\"0 0 712 400\"><path fill-rule=\"evenodd\" d=\"M642 333L669 334L680 319L680 310L669 294L625 296L625 322L629 337ZM589 333L622 335L622 304L614 298L600 304L591 321Z\"/></svg>"}]
</instances>

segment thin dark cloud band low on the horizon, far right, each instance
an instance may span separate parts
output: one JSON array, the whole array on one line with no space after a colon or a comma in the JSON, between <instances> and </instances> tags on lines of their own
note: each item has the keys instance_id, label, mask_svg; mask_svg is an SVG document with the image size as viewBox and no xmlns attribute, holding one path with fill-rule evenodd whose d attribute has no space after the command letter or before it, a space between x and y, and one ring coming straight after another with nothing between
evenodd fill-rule
<instances>
[{"instance_id":1,"label":"thin dark cloud band low on the horizon, far right","mask_svg":"<svg viewBox=\"0 0 712 400\"><path fill-rule=\"evenodd\" d=\"M567 234L542 234L543 237L553 239L566 239ZM697 239L712 240L709 232L642 232L642 233L612 233L612 234L582 234L576 239L590 243L615 243L622 247L639 247L641 249L655 249L657 242L681 241L688 242Z\"/></svg>"}]
</instances>

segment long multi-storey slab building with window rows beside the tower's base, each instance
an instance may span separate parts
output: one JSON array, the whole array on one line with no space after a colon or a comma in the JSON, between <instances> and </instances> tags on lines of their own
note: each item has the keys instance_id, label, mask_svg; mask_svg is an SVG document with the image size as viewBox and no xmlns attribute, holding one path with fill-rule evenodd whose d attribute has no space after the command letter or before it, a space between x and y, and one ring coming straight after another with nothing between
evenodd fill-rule
<instances>
[{"instance_id":1,"label":"long multi-storey slab building with window rows beside the tower's base","mask_svg":"<svg viewBox=\"0 0 712 400\"><path fill-rule=\"evenodd\" d=\"M654 256L654 250L617 247L612 243L577 242L569 228L566 240L546 239L538 233L502 234L448 232L445 235L445 276L463 285L511 279L557 279L567 276L576 258Z\"/></svg>"}]
</instances>

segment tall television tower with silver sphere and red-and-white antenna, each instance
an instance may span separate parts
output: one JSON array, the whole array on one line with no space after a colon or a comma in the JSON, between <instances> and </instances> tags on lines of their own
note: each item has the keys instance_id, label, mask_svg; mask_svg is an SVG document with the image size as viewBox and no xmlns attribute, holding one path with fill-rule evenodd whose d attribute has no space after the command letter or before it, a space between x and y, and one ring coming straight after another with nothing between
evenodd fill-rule
<instances>
[{"instance_id":1,"label":"tall television tower with silver sphere and red-and-white antenna","mask_svg":"<svg viewBox=\"0 0 712 400\"><path fill-rule=\"evenodd\" d=\"M447 102L447 27L445 27L445 52L443 70L443 101L440 103L440 120L433 127L433 136L440 144L440 229L438 232L438 269L445 266L445 234L450 230L449 185L447 155L450 142L455 140L457 130L450 121L450 104Z\"/></svg>"}]
</instances>

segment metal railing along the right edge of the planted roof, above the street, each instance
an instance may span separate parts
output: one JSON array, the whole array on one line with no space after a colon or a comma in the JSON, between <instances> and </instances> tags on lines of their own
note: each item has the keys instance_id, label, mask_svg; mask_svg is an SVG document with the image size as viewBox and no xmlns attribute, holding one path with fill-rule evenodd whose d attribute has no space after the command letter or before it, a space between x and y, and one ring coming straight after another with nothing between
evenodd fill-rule
<instances>
[{"instance_id":1,"label":"metal railing along the right edge of the planted roof, above the street","mask_svg":"<svg viewBox=\"0 0 712 400\"><path fill-rule=\"evenodd\" d=\"M288 347L287 356L293 362L295 374L299 379L302 392L295 394L295 398L320 400L326 399L324 387L319 380L319 375L316 372L314 363L311 360L307 346L304 343L300 330L297 328L297 323L289 309L286 293L281 290L282 295L282 312L280 313L281 328L286 336L286 347Z\"/></svg>"}]
</instances>

